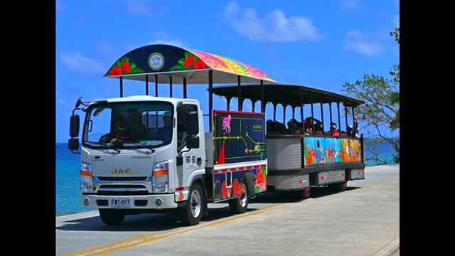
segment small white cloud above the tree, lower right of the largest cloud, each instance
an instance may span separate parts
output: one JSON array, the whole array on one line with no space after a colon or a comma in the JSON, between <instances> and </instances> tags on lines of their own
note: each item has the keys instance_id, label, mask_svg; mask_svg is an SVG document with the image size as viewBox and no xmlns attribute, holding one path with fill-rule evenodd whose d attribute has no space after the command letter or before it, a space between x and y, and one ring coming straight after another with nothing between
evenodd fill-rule
<instances>
[{"instance_id":1,"label":"small white cloud above the tree, lower right of the largest cloud","mask_svg":"<svg viewBox=\"0 0 455 256\"><path fill-rule=\"evenodd\" d=\"M346 34L344 49L367 57L378 56L384 52L378 36L362 34L359 31L349 31Z\"/></svg>"}]
</instances>

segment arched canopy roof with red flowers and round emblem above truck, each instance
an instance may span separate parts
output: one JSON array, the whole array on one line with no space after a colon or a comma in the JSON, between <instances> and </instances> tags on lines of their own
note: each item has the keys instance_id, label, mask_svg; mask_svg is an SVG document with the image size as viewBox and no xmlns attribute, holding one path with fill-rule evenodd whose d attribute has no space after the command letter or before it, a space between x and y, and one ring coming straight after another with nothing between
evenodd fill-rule
<instances>
[{"instance_id":1,"label":"arched canopy roof with red flowers and round emblem above truck","mask_svg":"<svg viewBox=\"0 0 455 256\"><path fill-rule=\"evenodd\" d=\"M127 80L155 82L155 75L160 83L182 84L186 78L188 84L208 83L208 70L213 70L213 83L274 82L261 70L228 57L222 57L200 50L188 50L176 46L156 44L143 46L130 51L119 58L107 70L105 77Z\"/></svg>"}]
</instances>

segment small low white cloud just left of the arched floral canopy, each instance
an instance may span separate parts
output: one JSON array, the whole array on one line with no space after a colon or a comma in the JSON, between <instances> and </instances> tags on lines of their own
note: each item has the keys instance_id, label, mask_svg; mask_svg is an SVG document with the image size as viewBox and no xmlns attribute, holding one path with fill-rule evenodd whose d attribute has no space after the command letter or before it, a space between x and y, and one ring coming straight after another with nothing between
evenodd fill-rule
<instances>
[{"instance_id":1,"label":"small low white cloud just left of the arched floral canopy","mask_svg":"<svg viewBox=\"0 0 455 256\"><path fill-rule=\"evenodd\" d=\"M60 60L65 67L77 73L104 75L106 71L105 65L83 56L77 52L62 53Z\"/></svg>"}]
</instances>

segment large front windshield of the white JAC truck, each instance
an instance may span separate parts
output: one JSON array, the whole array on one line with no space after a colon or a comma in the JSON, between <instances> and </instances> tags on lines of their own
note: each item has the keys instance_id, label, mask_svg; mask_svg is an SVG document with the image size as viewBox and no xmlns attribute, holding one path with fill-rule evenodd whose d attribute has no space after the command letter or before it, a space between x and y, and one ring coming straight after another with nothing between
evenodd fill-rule
<instances>
[{"instance_id":1,"label":"large front windshield of the white JAC truck","mask_svg":"<svg viewBox=\"0 0 455 256\"><path fill-rule=\"evenodd\" d=\"M169 102L101 102L87 109L82 142L92 148L149 148L171 143L172 134Z\"/></svg>"}]
</instances>

